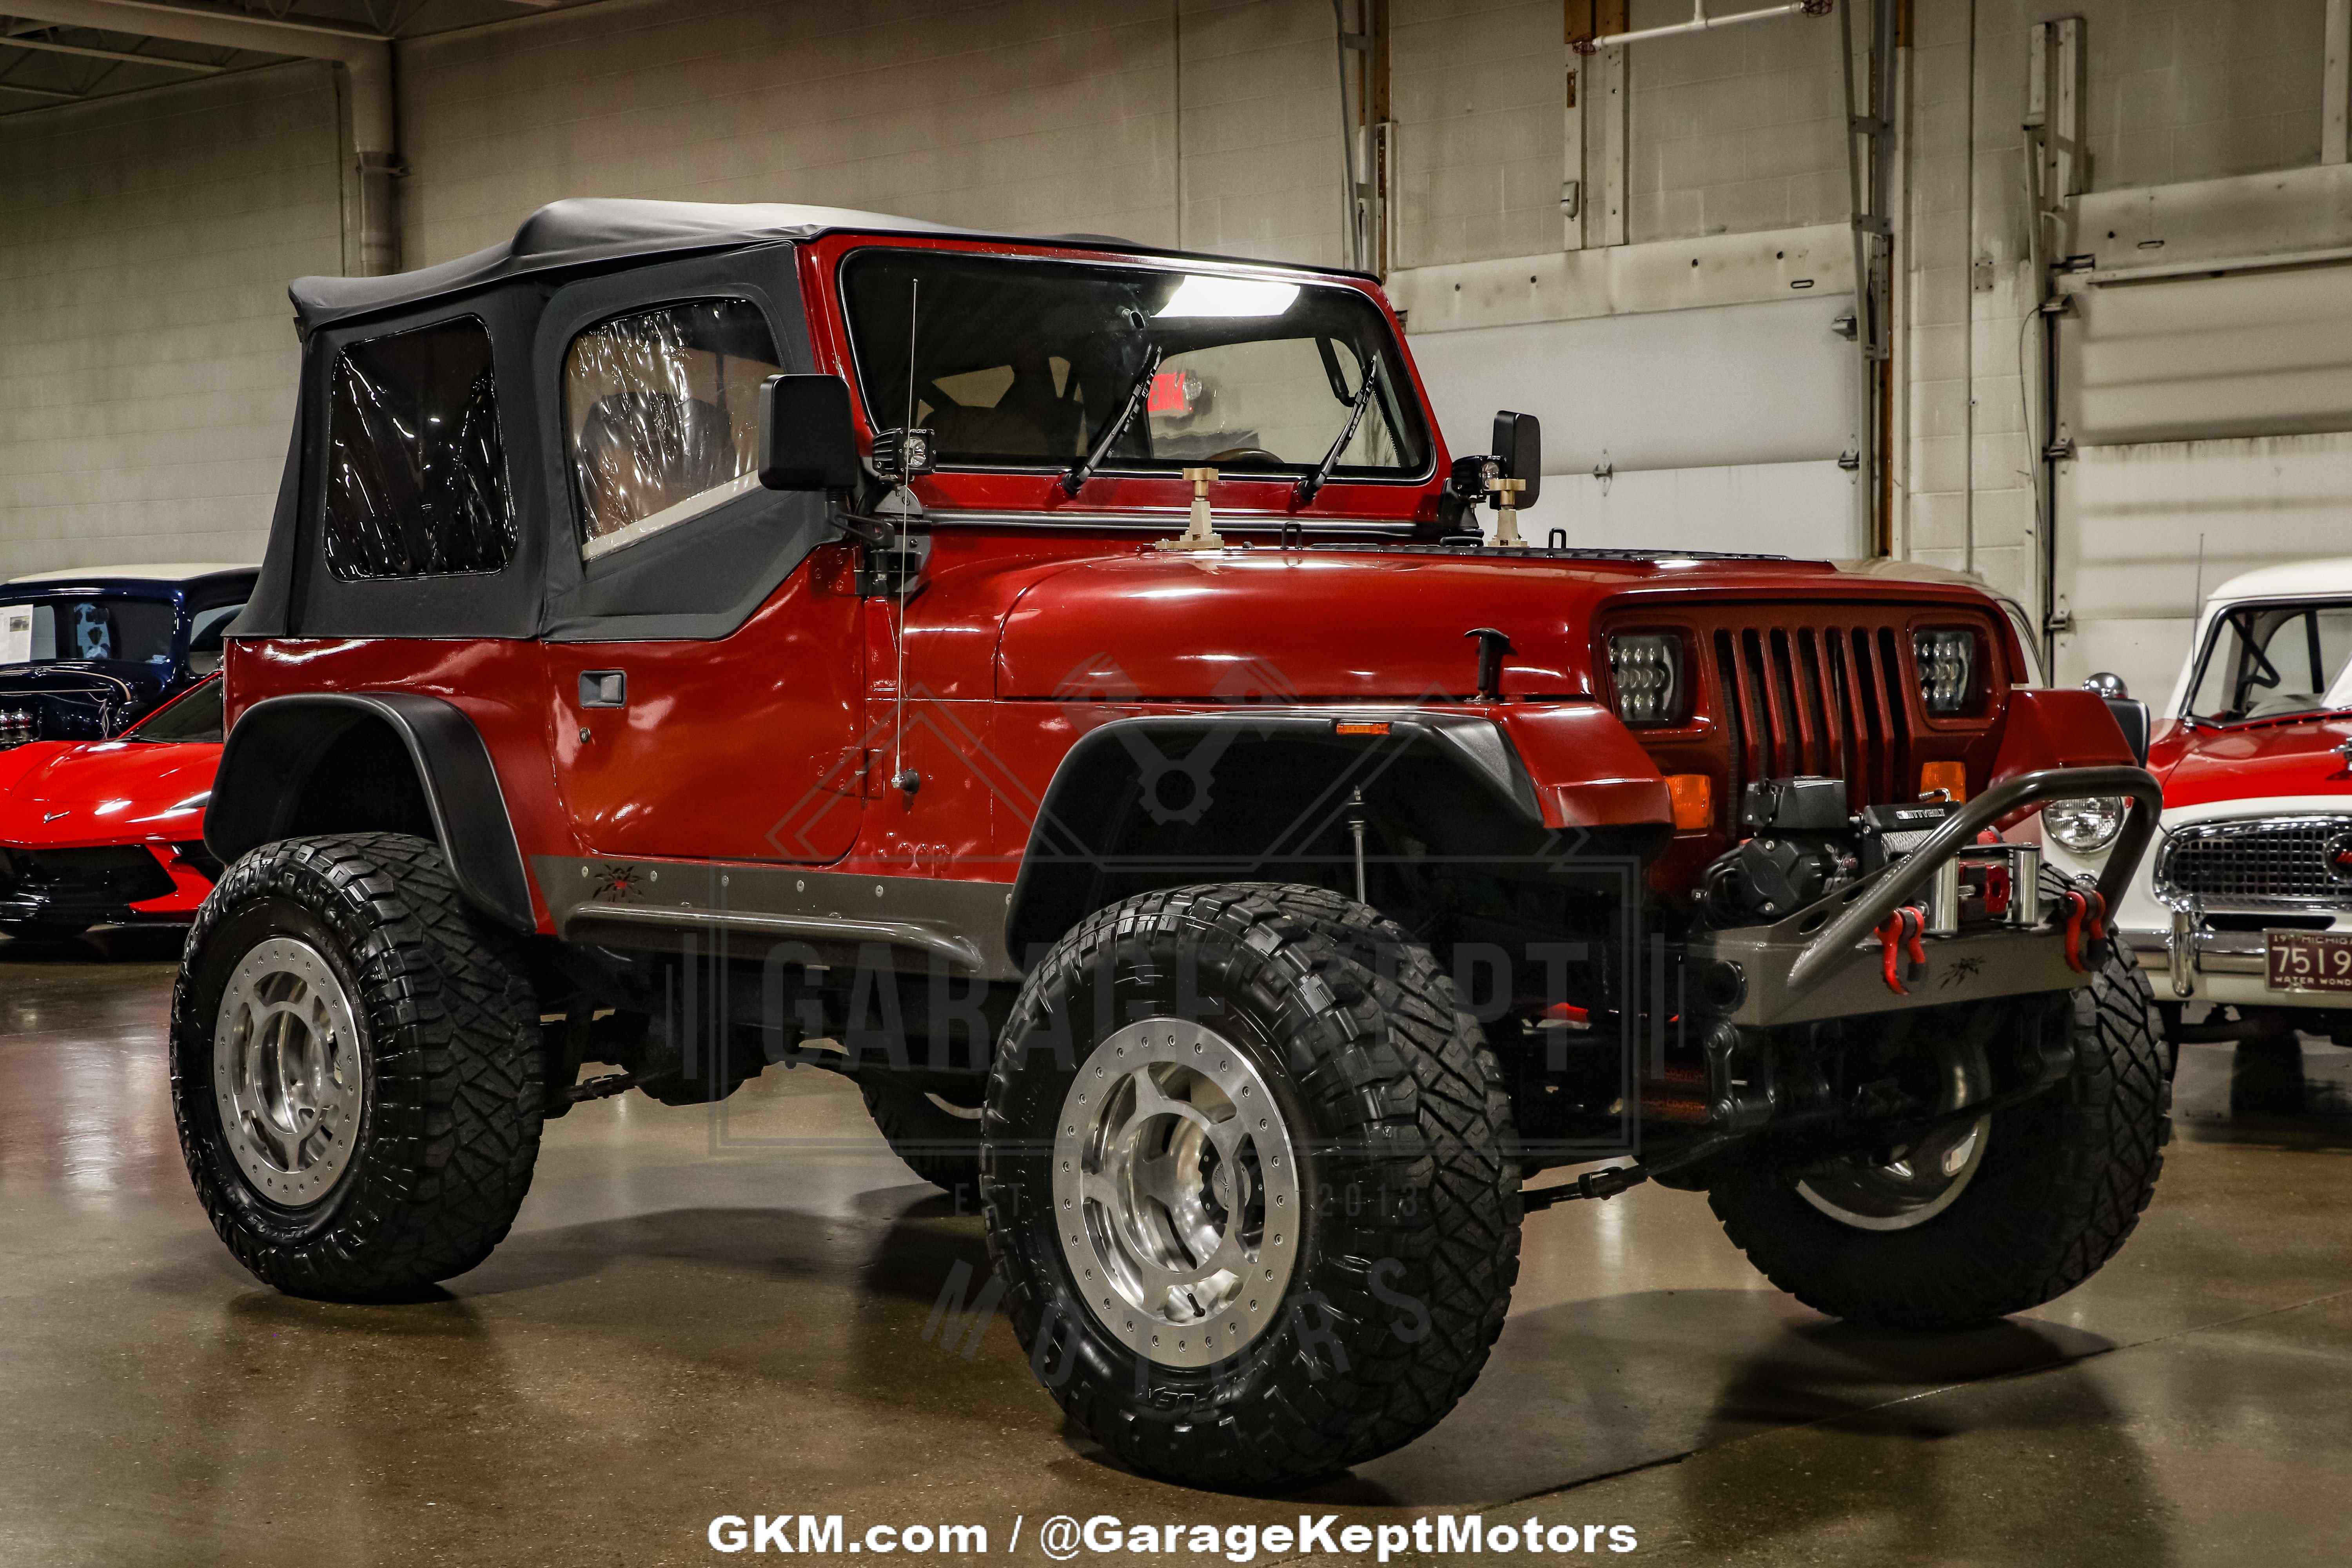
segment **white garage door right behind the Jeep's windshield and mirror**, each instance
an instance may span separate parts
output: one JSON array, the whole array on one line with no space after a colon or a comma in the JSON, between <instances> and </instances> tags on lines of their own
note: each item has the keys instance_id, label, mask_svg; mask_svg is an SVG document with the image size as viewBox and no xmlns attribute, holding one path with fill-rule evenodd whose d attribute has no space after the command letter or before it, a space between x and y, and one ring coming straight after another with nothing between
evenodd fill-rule
<instances>
[{"instance_id":1,"label":"white garage door right behind the Jeep's windshield and mirror","mask_svg":"<svg viewBox=\"0 0 2352 1568\"><path fill-rule=\"evenodd\" d=\"M1865 555L1851 294L1414 334L1454 451L1543 416L1543 543ZM1606 480L1592 470L1606 465Z\"/></svg>"}]
</instances>

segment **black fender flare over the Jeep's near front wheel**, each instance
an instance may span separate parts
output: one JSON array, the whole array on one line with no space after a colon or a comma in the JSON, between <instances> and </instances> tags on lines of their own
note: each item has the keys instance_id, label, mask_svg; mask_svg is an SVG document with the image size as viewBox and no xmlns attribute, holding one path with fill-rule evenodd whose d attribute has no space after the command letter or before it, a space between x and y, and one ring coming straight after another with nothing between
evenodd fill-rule
<instances>
[{"instance_id":1,"label":"black fender flare over the Jeep's near front wheel","mask_svg":"<svg viewBox=\"0 0 2352 1568\"><path fill-rule=\"evenodd\" d=\"M1343 731L1343 724L1350 729ZM1545 832L1536 785L1517 750L1501 724L1477 715L1247 708L1110 719L1063 752L1037 804L1004 912L1004 940L1014 961L1021 964L1023 952L1054 940L1087 912L1073 907L1073 900L1082 903L1075 884L1091 879L1101 863L1094 830L1103 804L1117 795L1117 783L1141 773L1150 792L1155 769L1209 769L1235 743L1282 741L1367 755L1428 748L1475 780L1515 825ZM1195 788L1204 792L1209 785L1195 776Z\"/></svg>"}]
</instances>

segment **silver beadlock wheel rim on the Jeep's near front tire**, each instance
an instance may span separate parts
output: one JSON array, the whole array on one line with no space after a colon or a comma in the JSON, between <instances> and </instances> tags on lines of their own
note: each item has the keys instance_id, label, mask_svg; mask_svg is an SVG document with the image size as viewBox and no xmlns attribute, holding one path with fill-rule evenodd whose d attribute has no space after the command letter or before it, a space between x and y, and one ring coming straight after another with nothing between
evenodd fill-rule
<instances>
[{"instance_id":1,"label":"silver beadlock wheel rim on the Jeep's near front tire","mask_svg":"<svg viewBox=\"0 0 2352 1568\"><path fill-rule=\"evenodd\" d=\"M1138 1356L1209 1366L1282 1312L1298 1154L1256 1063L1197 1023L1094 1048L1054 1133L1054 1218L1087 1307Z\"/></svg>"}]
</instances>

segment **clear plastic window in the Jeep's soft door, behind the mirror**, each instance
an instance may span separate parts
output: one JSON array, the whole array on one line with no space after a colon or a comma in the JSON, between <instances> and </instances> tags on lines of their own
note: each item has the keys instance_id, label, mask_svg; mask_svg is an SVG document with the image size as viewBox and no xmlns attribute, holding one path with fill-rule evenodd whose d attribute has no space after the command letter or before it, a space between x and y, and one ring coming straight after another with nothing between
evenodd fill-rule
<instances>
[{"instance_id":1,"label":"clear plastic window in the Jeep's soft door, behind the mirror","mask_svg":"<svg viewBox=\"0 0 2352 1568\"><path fill-rule=\"evenodd\" d=\"M760 383L774 336L743 299L600 322L564 350L564 470L581 555L673 529L757 489Z\"/></svg>"}]
</instances>

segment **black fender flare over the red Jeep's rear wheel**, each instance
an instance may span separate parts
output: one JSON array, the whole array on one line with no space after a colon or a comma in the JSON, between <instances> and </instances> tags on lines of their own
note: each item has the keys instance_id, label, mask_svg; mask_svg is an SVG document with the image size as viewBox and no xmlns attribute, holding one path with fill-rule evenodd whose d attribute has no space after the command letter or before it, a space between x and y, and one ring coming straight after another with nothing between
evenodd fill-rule
<instances>
[{"instance_id":1,"label":"black fender flare over the red Jeep's rear wheel","mask_svg":"<svg viewBox=\"0 0 2352 1568\"><path fill-rule=\"evenodd\" d=\"M482 731L456 703L414 691L315 691L254 703L228 731L205 806L205 849L221 865L287 837L294 806L336 741L383 724L409 755L433 837L459 893L494 919L536 931L515 823Z\"/></svg>"}]
</instances>

